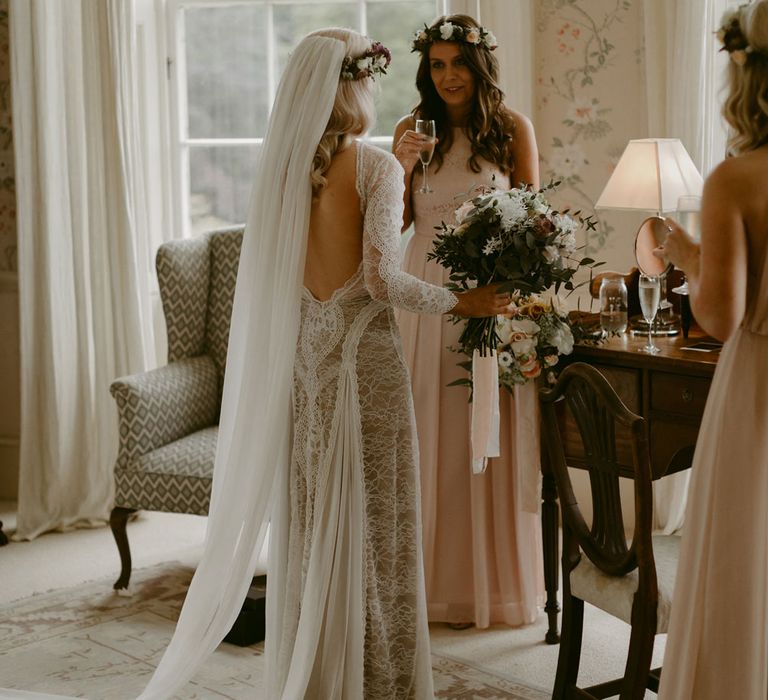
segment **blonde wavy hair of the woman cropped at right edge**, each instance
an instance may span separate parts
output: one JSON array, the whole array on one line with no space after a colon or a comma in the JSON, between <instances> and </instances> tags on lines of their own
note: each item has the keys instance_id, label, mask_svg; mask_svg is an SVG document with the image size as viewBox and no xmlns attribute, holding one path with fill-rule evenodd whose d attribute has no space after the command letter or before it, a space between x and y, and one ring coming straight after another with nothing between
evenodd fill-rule
<instances>
[{"instance_id":1,"label":"blonde wavy hair of the woman cropped at right edge","mask_svg":"<svg viewBox=\"0 0 768 700\"><path fill-rule=\"evenodd\" d=\"M749 52L743 65L728 62L723 104L723 117L733 127L728 148L734 155L768 144L768 0L742 7L738 19Z\"/></svg>"}]
</instances>

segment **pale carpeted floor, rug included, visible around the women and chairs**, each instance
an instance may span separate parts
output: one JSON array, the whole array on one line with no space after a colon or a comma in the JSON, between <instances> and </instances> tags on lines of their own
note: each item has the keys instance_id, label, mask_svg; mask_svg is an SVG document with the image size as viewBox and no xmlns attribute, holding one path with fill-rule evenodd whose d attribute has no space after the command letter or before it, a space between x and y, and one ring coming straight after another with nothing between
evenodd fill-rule
<instances>
[{"instance_id":1,"label":"pale carpeted floor, rug included, visible around the women and chairs","mask_svg":"<svg viewBox=\"0 0 768 700\"><path fill-rule=\"evenodd\" d=\"M5 521L5 531L8 534L13 532L15 517L15 504L0 502L0 520ZM140 603L143 594L139 592L139 587L147 585L153 576L152 572L163 571L162 568L154 567L166 562L180 562L178 566L172 567L169 576L191 576L202 551L205 523L205 518L194 515L149 512L142 513L135 522L130 523L128 529L134 561L131 587L136 591L133 602L143 606L141 610L138 607L131 608L131 601L128 601L126 608L126 601L113 598L111 593L112 581L119 571L119 561L108 527L49 533L33 542L11 542L7 547L0 547L0 687L9 685L10 678L13 677L21 679L23 682L18 682L18 685L23 687L42 684L39 687L49 690L60 687L68 689L71 686L70 681L66 680L67 676L88 673L88 669L95 668L93 673L102 679L99 682L107 688L109 683L114 685L116 694L105 697L135 697L131 691L143 687L144 680L154 668L157 654L165 647L170 637L172 620L176 614L169 613L167 607L164 608L165 613L152 607L153 598L156 597L152 589L147 589L149 600ZM49 604L51 609L46 607ZM78 609L78 605L85 607ZM64 615L63 621L68 620L70 626L64 629L57 623L55 626L58 631L46 632L49 619L58 619L58 613L54 614L56 606L59 610L69 611ZM131 616L125 617L123 623L113 621L105 628L91 629L90 618L102 614L99 612L100 606L106 611L111 610L110 614L113 616L119 616L120 611L133 612ZM29 639L26 638L26 633L20 634L18 631L13 633L11 640L6 639L10 633L10 621L15 620L14 624L17 625L22 624L19 611L25 610L28 610L28 617L23 624L28 625L27 629L31 629ZM37 623L32 629L29 626L35 623L35 620ZM86 620L88 621L85 622ZM134 654L135 658L130 657L137 643L135 640L143 639L147 630L151 632L150 637L154 641L147 642L141 653ZM510 693L515 692L518 692L517 697L523 698L549 697L555 678L559 647L544 643L545 631L546 616L543 612L539 613L534 624L520 628L495 625L485 630L470 628L457 631L439 623L430 625L430 640L435 655L435 677L438 683L442 684L440 692L444 693L441 697L462 697L458 693L463 692L463 686L457 686L457 683L474 687L471 684L475 683L476 674L481 678L478 683L484 684L482 687L485 690L482 692L491 692L487 690L491 687L492 694L483 696L479 694L481 691L472 690L463 698L514 698L516 696ZM70 635L66 642L69 652L64 649L62 642L61 649L52 653L50 650L55 646L48 646L45 641L47 636L64 632ZM93 637L92 643L87 641L88 635ZM125 636L127 641L123 640L121 635ZM86 640L77 641L81 637L86 637ZM113 639L117 641L110 641ZM621 675L628 639L627 625L591 606L586 606L580 684L591 685ZM664 635L657 637L654 666L661 665L664 642ZM115 646L116 651L112 650ZM154 656L152 649L155 650ZM242 656L243 652L245 657ZM45 667L50 668L47 680L39 677L41 658ZM91 661L91 658L95 661ZM456 662L462 669L459 681L451 680L451 662ZM111 663L115 665L110 666ZM238 674L242 674L243 670L257 676L260 673L260 657L253 649L240 650L224 645L214 655L211 663L210 673L214 677L222 672L227 676L233 668L239 670L237 674L231 674L232 678L239 678ZM124 678L122 669L126 669L129 674L135 674L135 678ZM200 686L208 677L205 673L209 671L204 671L202 680L196 680L198 685L190 685L188 688L190 693L196 692L197 695L179 697L227 697L220 691L212 694L213 691L205 689L207 686ZM227 678L229 681L229 677ZM491 679L502 687L494 688ZM82 679L75 678L74 682L82 682ZM249 700L257 700L260 697L260 693L253 689L257 686L248 685L255 683L252 679L237 682L243 683L247 690L243 690L243 695L240 696L231 692L229 697L247 697ZM516 686L533 690L529 691L527 696L520 696L522 691L514 690ZM101 700L97 696L89 697L90 700ZM649 692L646 697L651 700L656 696Z\"/></svg>"}]
</instances>

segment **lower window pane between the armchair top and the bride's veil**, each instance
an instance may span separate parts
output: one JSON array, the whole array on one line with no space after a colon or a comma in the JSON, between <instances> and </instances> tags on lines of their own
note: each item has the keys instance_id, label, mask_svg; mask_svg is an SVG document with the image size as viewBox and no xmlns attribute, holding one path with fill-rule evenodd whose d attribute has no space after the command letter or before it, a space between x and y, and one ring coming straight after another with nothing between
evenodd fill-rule
<instances>
[{"instance_id":1,"label":"lower window pane between the armchair top and the bride's veil","mask_svg":"<svg viewBox=\"0 0 768 700\"><path fill-rule=\"evenodd\" d=\"M259 146L192 146L189 216L196 235L245 222Z\"/></svg>"}]
</instances>

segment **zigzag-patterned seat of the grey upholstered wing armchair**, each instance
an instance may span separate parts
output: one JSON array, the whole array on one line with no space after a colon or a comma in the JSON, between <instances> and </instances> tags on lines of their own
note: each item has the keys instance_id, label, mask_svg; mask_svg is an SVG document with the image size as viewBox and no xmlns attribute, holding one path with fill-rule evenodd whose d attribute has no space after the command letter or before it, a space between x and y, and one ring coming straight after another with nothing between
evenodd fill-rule
<instances>
[{"instance_id":1,"label":"zigzag-patterned seat of the grey upholstered wing armchair","mask_svg":"<svg viewBox=\"0 0 768 700\"><path fill-rule=\"evenodd\" d=\"M115 505L206 515L217 434L217 426L198 430L115 469Z\"/></svg>"}]
</instances>

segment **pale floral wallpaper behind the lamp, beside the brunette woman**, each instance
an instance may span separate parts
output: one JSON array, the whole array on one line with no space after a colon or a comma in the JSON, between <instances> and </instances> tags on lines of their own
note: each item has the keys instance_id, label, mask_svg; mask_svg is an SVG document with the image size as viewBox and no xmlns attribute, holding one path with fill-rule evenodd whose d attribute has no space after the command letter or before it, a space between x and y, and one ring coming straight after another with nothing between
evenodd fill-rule
<instances>
[{"instance_id":1,"label":"pale floral wallpaper behind the lamp, beside the brunette woman","mask_svg":"<svg viewBox=\"0 0 768 700\"><path fill-rule=\"evenodd\" d=\"M536 3L536 113L541 179L556 206L594 213L627 141L647 133L641 0ZM585 241L604 269L634 263L634 213L596 213Z\"/></svg>"}]
</instances>

